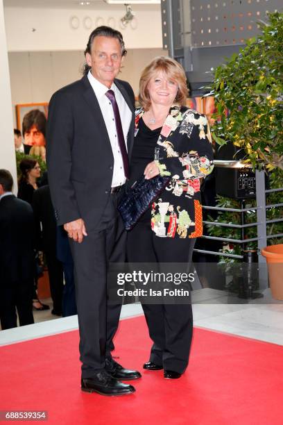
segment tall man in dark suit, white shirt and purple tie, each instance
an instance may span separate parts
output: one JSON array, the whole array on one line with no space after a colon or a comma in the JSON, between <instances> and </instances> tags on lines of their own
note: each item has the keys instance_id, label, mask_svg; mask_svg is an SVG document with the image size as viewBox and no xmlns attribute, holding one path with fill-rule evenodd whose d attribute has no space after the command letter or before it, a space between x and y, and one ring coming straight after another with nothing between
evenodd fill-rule
<instances>
[{"instance_id":1,"label":"tall man in dark suit, white shirt and purple tie","mask_svg":"<svg viewBox=\"0 0 283 425\"><path fill-rule=\"evenodd\" d=\"M117 203L129 175L134 138L134 93L118 80L126 50L119 31L101 26L89 36L85 75L49 103L47 164L58 225L74 259L82 390L129 394L139 378L113 360L121 305L107 299L111 262L123 263L126 235Z\"/></svg>"}]
</instances>

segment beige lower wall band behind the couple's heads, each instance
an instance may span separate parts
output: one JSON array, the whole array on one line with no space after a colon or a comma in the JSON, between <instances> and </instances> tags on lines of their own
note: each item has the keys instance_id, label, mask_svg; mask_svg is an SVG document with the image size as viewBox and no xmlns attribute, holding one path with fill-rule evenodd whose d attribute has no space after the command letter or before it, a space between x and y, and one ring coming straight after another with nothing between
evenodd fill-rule
<instances>
[{"instance_id":1,"label":"beige lower wall band behind the couple's heads","mask_svg":"<svg viewBox=\"0 0 283 425\"><path fill-rule=\"evenodd\" d=\"M162 49L129 49L119 78L128 81L137 95L141 70L155 58L167 55ZM53 92L81 78L83 51L10 52L12 106L48 102Z\"/></svg>"}]
</instances>

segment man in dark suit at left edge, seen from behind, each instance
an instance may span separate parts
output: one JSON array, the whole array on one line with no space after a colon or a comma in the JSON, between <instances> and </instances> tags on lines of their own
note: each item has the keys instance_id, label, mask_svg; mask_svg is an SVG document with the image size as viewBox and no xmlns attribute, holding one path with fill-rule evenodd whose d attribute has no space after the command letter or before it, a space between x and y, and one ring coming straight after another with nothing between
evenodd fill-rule
<instances>
[{"instance_id":1,"label":"man in dark suit at left edge, seen from behind","mask_svg":"<svg viewBox=\"0 0 283 425\"><path fill-rule=\"evenodd\" d=\"M1 328L33 324L34 222L29 203L12 194L12 175L0 169ZM16 313L17 308L17 313Z\"/></svg>"}]
</instances>

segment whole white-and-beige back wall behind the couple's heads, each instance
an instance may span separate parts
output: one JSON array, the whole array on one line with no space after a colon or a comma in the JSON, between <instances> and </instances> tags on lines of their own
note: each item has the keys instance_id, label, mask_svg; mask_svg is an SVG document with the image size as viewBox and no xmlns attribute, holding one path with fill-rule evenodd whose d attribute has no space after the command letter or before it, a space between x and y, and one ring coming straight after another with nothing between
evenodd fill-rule
<instances>
[{"instance_id":1,"label":"whole white-and-beige back wall behind the couple's heads","mask_svg":"<svg viewBox=\"0 0 283 425\"><path fill-rule=\"evenodd\" d=\"M114 26L123 34L128 55L120 78L129 81L135 94L138 94L141 69L155 56L168 54L168 51L162 50L160 5L151 6L148 10L137 8L136 29L130 25L121 29L119 22L124 14L123 5L103 10L4 9L15 126L15 105L49 101L55 90L81 78L83 51L96 24ZM78 17L78 29L70 25L70 19L74 16ZM83 25L83 19L87 16L93 22L89 29ZM98 17L102 19L99 22ZM32 31L33 28L35 31Z\"/></svg>"}]
</instances>

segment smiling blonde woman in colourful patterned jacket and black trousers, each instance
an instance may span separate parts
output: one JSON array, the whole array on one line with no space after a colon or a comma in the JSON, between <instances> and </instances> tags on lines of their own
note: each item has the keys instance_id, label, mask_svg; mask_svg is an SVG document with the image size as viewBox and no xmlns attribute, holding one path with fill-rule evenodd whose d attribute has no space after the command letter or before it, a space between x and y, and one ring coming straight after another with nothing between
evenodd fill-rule
<instances>
[{"instance_id":1,"label":"smiling blonde woman in colourful patterned jacket and black trousers","mask_svg":"<svg viewBox=\"0 0 283 425\"><path fill-rule=\"evenodd\" d=\"M128 233L130 263L190 263L202 235L200 179L212 171L212 140L205 115L184 106L187 94L185 72L171 58L155 58L141 74L130 184L141 174L170 181ZM191 304L142 307L153 340L144 369L180 378L189 362Z\"/></svg>"}]
</instances>

